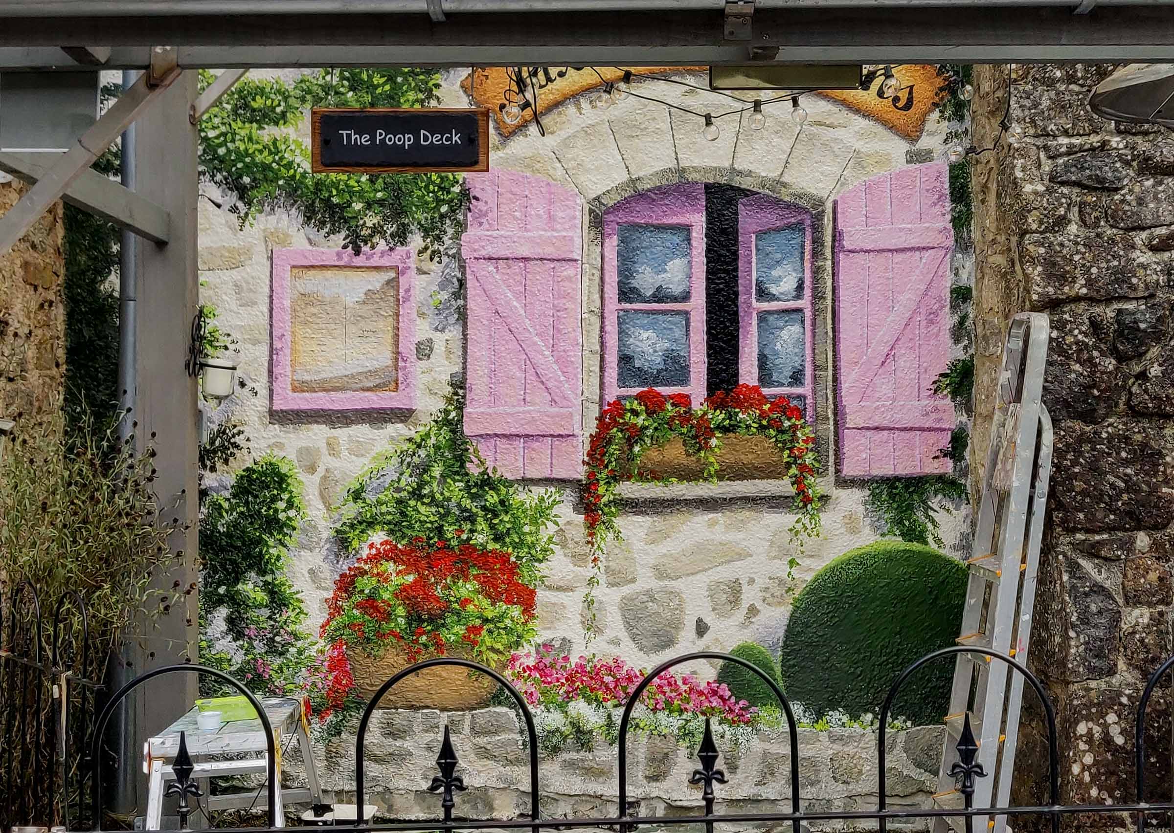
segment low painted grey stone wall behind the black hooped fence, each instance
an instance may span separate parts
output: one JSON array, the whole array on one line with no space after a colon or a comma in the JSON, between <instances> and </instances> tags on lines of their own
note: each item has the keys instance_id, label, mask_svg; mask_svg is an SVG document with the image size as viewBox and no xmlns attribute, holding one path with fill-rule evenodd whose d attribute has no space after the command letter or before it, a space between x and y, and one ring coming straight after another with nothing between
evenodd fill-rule
<instances>
[{"instance_id":1,"label":"low painted grey stone wall behind the black hooped fence","mask_svg":"<svg viewBox=\"0 0 1174 833\"><path fill-rule=\"evenodd\" d=\"M424 787L436 770L444 726L460 759L468 791L458 793L457 813L467 818L518 818L529 812L528 752L511 709L472 712L380 709L364 745L365 800L397 819L436 818L440 797ZM892 732L886 740L886 792L891 807L925 806L937 785L945 730L920 726ZM729 783L717 790L717 813L780 812L790 799L791 750L785 736L760 739L740 750L718 741L720 766ZM798 730L799 794L805 808L853 811L876 807L877 736L861 729ZM355 791L355 743L340 738L316 750L323 788L336 795ZM628 743L629 811L640 815L681 815L701 808L689 786L697 761L667 738ZM303 784L298 763L286 766L291 784ZM421 773L424 773L421 776ZM426 778L425 778L426 776ZM544 818L614 815L618 811L615 747L568 747L558 758L539 758ZM812 825L826 829L830 825ZM925 820L900 825L927 829ZM736 825L729 826L737 829Z\"/></svg>"}]
</instances>

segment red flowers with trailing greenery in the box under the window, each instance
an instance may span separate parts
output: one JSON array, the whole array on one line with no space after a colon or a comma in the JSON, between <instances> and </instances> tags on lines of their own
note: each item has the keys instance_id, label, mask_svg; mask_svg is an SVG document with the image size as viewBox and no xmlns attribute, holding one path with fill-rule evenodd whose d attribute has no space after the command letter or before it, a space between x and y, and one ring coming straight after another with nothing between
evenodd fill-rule
<instances>
[{"instance_id":1,"label":"red flowers with trailing greenery in the box under the window","mask_svg":"<svg viewBox=\"0 0 1174 833\"><path fill-rule=\"evenodd\" d=\"M721 438L729 434L763 436L774 443L785 461L780 478L790 480L795 488L792 509L797 516L791 524L792 541L802 548L804 536L819 534L821 490L816 482L819 460L815 453L815 433L803 409L787 397L768 399L757 385L738 385L733 391L715 393L696 408L686 393L664 395L654 388L641 391L626 401L608 402L587 447L582 483L583 524L595 568L585 598L588 641L593 635L594 589L599 585L601 556L608 541L621 537L616 523L621 509L620 483L627 480L672 482L657 472L642 468L640 460L649 448L663 446L674 438L681 439L687 454L702 461L702 479L715 482ZM792 558L791 567L796 563Z\"/></svg>"}]
</instances>

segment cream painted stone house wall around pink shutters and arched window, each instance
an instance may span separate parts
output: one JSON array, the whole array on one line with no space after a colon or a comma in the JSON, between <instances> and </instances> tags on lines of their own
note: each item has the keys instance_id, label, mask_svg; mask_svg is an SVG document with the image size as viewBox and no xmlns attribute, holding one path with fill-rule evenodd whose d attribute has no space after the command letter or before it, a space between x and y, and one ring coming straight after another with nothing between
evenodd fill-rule
<instances>
[{"instance_id":1,"label":"cream painted stone house wall around pink shutters and arched window","mask_svg":"<svg viewBox=\"0 0 1174 833\"><path fill-rule=\"evenodd\" d=\"M445 76L443 103L470 103L459 87L466 75L452 72ZM702 76L681 79L703 81ZM716 104L710 101L714 94L676 84L661 84L656 94L694 109ZM699 189L721 187L744 189L738 194L769 195L809 212L814 225L810 405L821 447L828 462L834 461L839 442L834 419L839 405L831 336L837 326L831 285L836 198L853 187L859 188L863 198L865 180L937 158L945 128L931 116L924 133L910 140L831 100L809 96L804 107L809 117L802 127L776 108L770 111L767 129L751 130L745 124L748 114L743 114L741 121L722 121L721 137L709 142L701 136L700 121L682 118L682 114L662 103L629 97L602 108L589 95L580 95L544 114L545 136L533 127L510 136L493 131L494 170L554 183L582 204L576 221L582 224L578 299L582 354L575 357L575 368L582 392L579 424L583 427L578 443L585 442L605 395L600 302L603 217L612 206L637 192L693 182L699 183ZM204 189L210 192L208 185ZM474 204L474 214L477 210ZM317 625L324 612L321 600L329 594L337 569L328 507L377 451L429 419L454 374L478 373L484 364L478 361L480 347L468 352L465 347L465 339L474 339L478 333L466 336L453 313L452 298L468 283L463 273L468 269L468 257L464 264L414 258L414 320L409 323L416 333L407 357L418 379L414 408L279 409L272 407L276 398L270 387L275 363L270 330L272 253L306 248L335 251L338 241L324 239L290 217L265 216L256 225L241 229L235 217L207 199L200 203L200 216L202 300L217 306L218 324L241 340L242 375L249 384L249 390L221 406L212 421L225 416L241 420L254 453L272 448L296 460L306 483L311 520L303 528L294 577L310 601ZM965 258L958 258L945 275L966 280L966 269ZM945 285L937 290L944 293ZM434 305L434 299L443 303ZM939 300L944 309L944 297ZM717 311L710 314L716 319ZM944 331L947 323L935 320L938 325ZM715 325L710 323L709 327L714 330ZM733 336L736 341L736 332ZM926 365L911 381L927 386L940 370ZM885 372L893 371L889 367ZM734 373L736 384L736 367ZM703 380L700 393L704 395ZM913 398L918 395L915 391ZM952 413L949 419L952 426ZM932 439L937 442L940 438ZM491 463L508 468L504 460L494 459L487 442L479 445ZM929 449L932 443L925 445ZM886 453L893 454L891 446ZM890 460L888 469L880 463L876 472L916 472L922 462L931 467L926 470L940 468L940 461L929 461L931 453L924 454L924 461L918 456L920 452L912 453L912 463L905 469L902 465L908 454L898 448L897 468ZM581 451L574 456L579 454ZM785 543L785 530L794 516L787 508L790 493L785 485L632 487L635 500L621 517L626 541L608 553L603 585L596 594L599 629L607 650L643 663L672 651L729 649L747 638L777 646L792 597L788 588L794 591L830 558L877 537L865 517L864 485L838 476L838 463L831 465L829 476L822 481L829 492L824 537L808 543L795 582L788 580L787 569L792 549ZM581 472L575 475L581 476ZM537 486L541 487L541 480ZM555 534L558 555L547 566L549 575L539 594L539 629L544 638L578 650L582 645L581 597L589 576L589 553L578 487L553 488L562 499L561 524ZM965 520L965 514L943 516L947 547L963 537Z\"/></svg>"}]
</instances>

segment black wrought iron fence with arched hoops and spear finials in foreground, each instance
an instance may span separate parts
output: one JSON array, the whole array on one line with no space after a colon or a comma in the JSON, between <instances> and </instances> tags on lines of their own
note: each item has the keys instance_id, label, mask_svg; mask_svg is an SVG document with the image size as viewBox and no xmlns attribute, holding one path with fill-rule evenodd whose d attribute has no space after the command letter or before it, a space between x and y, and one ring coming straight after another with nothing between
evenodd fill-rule
<instances>
[{"instance_id":1,"label":"black wrought iron fence with arched hoops and spear finials in foreground","mask_svg":"<svg viewBox=\"0 0 1174 833\"><path fill-rule=\"evenodd\" d=\"M973 797L977 779L993 777L993 773L985 772L983 766L977 761L978 745L974 741L973 733L970 731L969 719L965 723L964 730L960 733L960 738L957 741L957 750L959 763L954 764L951 770L951 776L954 777L958 791L963 797L963 807L960 808L945 808L945 807L902 807L902 808L889 808L886 804L886 790L885 790L885 754L886 754L886 726L889 723L889 717L891 715L891 709L893 699L900 691L902 686L924 665L943 659L945 657L952 657L958 653L972 653L978 656L989 657L992 661L999 661L1006 663L1012 672L1020 673L1026 678L1027 683L1034 690L1035 695L1039 697L1043 704L1045 729L1047 731L1047 750L1048 750L1048 802L1044 805L1032 805L1032 806L1000 806L1000 807L974 807ZM694 770L689 778L689 783L701 787L701 802L702 808L699 813L690 815L672 815L672 817L643 817L635 815L630 813L630 805L628 804L628 772L627 772L627 741L628 741L628 726L632 719L633 711L639 705L641 695L643 691L664 671L680 665L682 663L700 661L700 659L718 659L722 662L730 662L745 668L751 673L757 675L774 692L782 712L785 715L791 754L789 756L789 786L790 786L790 798L783 804L781 801L781 807L777 812L768 813L715 813L714 805L717 797L717 787L728 783L728 777L726 772L717 766L720 763L720 753L716 744L714 743L713 731L710 722L706 719L704 734L701 740L701 745L697 750L697 759L700 766ZM864 661L864 658L862 658ZM364 822L358 821L357 824L343 824L336 825L333 829L337 833L370 833L371 831L404 831L404 832L426 832L426 831L454 831L454 829L526 829L529 828L532 833L539 833L542 829L567 829L567 828L609 828L618 829L620 833L630 833L635 827L640 825L655 825L657 827L680 827L682 825L703 825L707 833L713 833L714 825L717 822L726 824L737 824L742 826L757 826L761 828L775 828L778 825L790 825L792 833L801 833L805 825L810 822L843 822L846 826L858 826L864 822L875 821L882 832L888 829L890 821L906 821L911 819L958 819L965 827L966 833L973 833L973 825L976 818L983 819L998 819L998 818L1024 818L1024 817L1035 817L1045 819L1053 833L1059 831L1060 821L1065 815L1097 815L1097 814L1112 814L1112 813L1131 813L1136 820L1138 829L1143 833L1147 824L1147 817L1154 813L1168 813L1174 810L1174 800L1172 801L1146 801L1146 779L1145 779L1145 726L1146 716L1149 706L1149 702L1153 697L1155 689L1158 688L1161 679L1165 677L1167 671L1174 666L1174 657L1170 657L1165 663L1159 666L1153 675L1149 677L1145 692L1141 700L1138 704L1136 713L1136 731L1135 731L1135 785L1136 794L1135 800L1131 804L1116 804L1116 805L1061 805L1060 804L1060 777L1059 777L1059 739L1057 736L1055 727L1055 710L1052 706L1051 700L1047 697L1043 684L1039 679L1031 673L1023 664L1018 663L1011 657L1001 656L992 651L978 648L969 646L951 646L945 648L925 657L918 659L916 663L910 665L905 671L900 673L897 680L893 683L889 691L889 695L884 702L880 710L880 724L877 737L877 783L878 783L878 795L877 807L875 810L859 810L859 811L830 811L821 808L804 808L803 800L799 794L799 756L798 756L798 732L795 720L795 715L791 710L791 704L787 699L787 695L777 685L777 683L770 679L765 673L753 664L735 657L729 653L720 653L715 651L702 651L695 653L686 653L679 657L674 657L668 662L662 663L641 680L636 686L635 691L628 698L626 703L622 717L619 726L619 750L618 750L618 772L619 772L619 814L614 817L598 817L598 818L542 818L540 811L540 795L541 795L541 784L540 784L540 767L538 758L538 732L535 729L534 717L526 704L525 698L514 689L510 682L502 677L500 673L493 669L480 665L475 662L468 659L448 658L441 657L436 659L429 659L425 662L417 663L410 668L404 669L390 679L387 679L371 698L366 709L359 719L358 729L355 737L355 806L363 807L366 802L366 781L364 773L364 743L366 739L367 730L371 725L371 718L375 710L378 707L379 702L383 696L387 693L397 683L399 683L405 677L423 671L430 668L440 665L457 665L463 668L473 669L484 675L487 675L495 679L504 690L510 695L513 702L520 710L522 723L525 724L526 737L528 740L527 752L528 764L529 764L529 811L524 818L515 819L478 819L478 818L461 818L456 811L458 807L457 794L464 792L472 785L465 784L464 777L458 773L460 767L460 760L457 751L453 749L452 743L448 738L447 726L444 729L444 737L440 745L440 754L437 758L438 774L432 777L431 783L427 786L430 792L439 793L439 818L436 820L412 820L412 821L391 821L391 822ZM258 829L276 831L276 794L272 790L274 778L275 778L275 745L272 739L272 732L270 730L269 720L265 716L264 710L261 707L261 703L257 698L251 695L244 685L228 677L223 672L207 669L198 665L171 665L162 669L151 671L148 675L143 675L122 689L120 689L110 700L107 703L101 716L97 718L97 731L99 734L94 736L93 752L92 754L96 758L99 753L97 739L101 737L102 727L106 725L115 706L127 696L129 696L135 689L141 684L148 682L149 679L161 677L169 673L208 673L210 676L217 677L231 686L241 691L243 695L249 697L254 707L256 709L258 716L261 717L262 724L265 729L265 734L269 738L269 756L268 756L268 774L266 774L266 786L268 786L268 827L257 828L249 827L244 828L256 833ZM168 791L169 794L176 795L178 798L180 808L180 820L181 827L185 828L188 817L191 812L191 805L189 799L198 797L200 787L196 781L191 778L191 766L187 760L181 760L185 758L185 750L183 744L180 745L184 754L181 754L176 759L174 766L175 783ZM104 761L99 761L99 766L95 771L95 784L101 784L102 768ZM423 778L426 780L429 776L424 773L404 773L405 779L418 779ZM101 818L101 794L100 792L94 793L94 810L92 818Z\"/></svg>"}]
</instances>

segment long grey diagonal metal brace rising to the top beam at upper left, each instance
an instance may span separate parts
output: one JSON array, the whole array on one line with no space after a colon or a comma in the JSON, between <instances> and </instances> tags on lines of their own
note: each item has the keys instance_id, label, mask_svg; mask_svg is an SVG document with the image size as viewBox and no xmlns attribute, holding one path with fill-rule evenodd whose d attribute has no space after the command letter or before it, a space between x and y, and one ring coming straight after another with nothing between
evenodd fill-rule
<instances>
[{"instance_id":1,"label":"long grey diagonal metal brace rising to the top beam at upper left","mask_svg":"<svg viewBox=\"0 0 1174 833\"><path fill-rule=\"evenodd\" d=\"M0 255L12 249L127 127L163 95L180 72L174 69L156 79L155 86L149 86L148 76L142 75L77 138L73 148L45 171L28 194L0 217Z\"/></svg>"}]
</instances>

